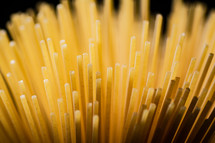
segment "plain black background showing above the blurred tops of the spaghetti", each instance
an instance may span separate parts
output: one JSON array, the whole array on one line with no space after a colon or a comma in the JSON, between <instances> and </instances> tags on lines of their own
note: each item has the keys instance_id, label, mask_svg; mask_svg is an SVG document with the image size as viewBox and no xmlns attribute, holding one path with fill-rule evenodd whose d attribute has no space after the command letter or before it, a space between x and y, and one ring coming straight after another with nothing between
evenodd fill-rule
<instances>
[{"instance_id":1,"label":"plain black background showing above the blurred tops of the spaghetti","mask_svg":"<svg viewBox=\"0 0 215 143\"><path fill-rule=\"evenodd\" d=\"M19 11L26 11L28 8L36 8L39 2L47 2L56 6L60 0L3 0L0 3L0 29L4 28L6 22L9 21L10 15ZM117 10L119 7L119 0L113 0L114 7ZM135 0L140 1L140 0ZM208 11L212 8L215 9L215 0L184 0L186 3L202 2L208 7ZM102 5L103 0L97 0ZM168 16L171 8L172 0L150 0L151 13L161 13L164 18ZM164 19L165 22L166 19ZM164 23L165 26L165 23Z\"/></svg>"}]
</instances>

